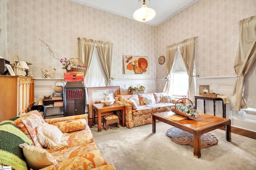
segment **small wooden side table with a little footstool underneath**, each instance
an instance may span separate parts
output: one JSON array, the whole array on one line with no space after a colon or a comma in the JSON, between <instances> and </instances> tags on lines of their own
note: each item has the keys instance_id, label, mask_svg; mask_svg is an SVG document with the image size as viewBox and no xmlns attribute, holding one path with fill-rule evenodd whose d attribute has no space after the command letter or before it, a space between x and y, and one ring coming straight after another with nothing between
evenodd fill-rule
<instances>
[{"instance_id":1,"label":"small wooden side table with a little footstool underneath","mask_svg":"<svg viewBox=\"0 0 256 170\"><path fill-rule=\"evenodd\" d=\"M101 132L101 116L112 114L111 111L122 110L122 126L125 127L125 106L114 102L110 106L103 104L92 105L92 124L95 124L95 111L98 113L98 132ZM104 113L103 113L104 112Z\"/></svg>"}]
</instances>

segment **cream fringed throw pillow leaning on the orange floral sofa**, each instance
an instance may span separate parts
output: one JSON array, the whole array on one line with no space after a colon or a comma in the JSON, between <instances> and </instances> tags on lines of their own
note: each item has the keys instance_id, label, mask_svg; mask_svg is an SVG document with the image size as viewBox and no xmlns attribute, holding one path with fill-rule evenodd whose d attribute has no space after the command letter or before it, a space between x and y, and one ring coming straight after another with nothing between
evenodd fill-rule
<instances>
[{"instance_id":1,"label":"cream fringed throw pillow leaning on the orange floral sofa","mask_svg":"<svg viewBox=\"0 0 256 170\"><path fill-rule=\"evenodd\" d=\"M36 127L37 137L41 145L48 149L60 149L68 143L61 142L63 133L54 125L44 123Z\"/></svg>"}]
</instances>

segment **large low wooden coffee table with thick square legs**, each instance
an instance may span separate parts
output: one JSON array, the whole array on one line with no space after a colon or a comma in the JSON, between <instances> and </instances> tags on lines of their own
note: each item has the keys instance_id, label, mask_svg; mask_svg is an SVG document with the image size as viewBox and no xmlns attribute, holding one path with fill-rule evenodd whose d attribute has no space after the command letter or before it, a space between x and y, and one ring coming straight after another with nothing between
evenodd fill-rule
<instances>
[{"instance_id":1,"label":"large low wooden coffee table with thick square legs","mask_svg":"<svg viewBox=\"0 0 256 170\"><path fill-rule=\"evenodd\" d=\"M225 126L226 128L226 141L231 141L231 121L230 119L201 114L197 119L182 119L178 121L173 121L166 118L167 116L174 115L172 111L164 113L156 113L152 115L152 132L156 133L156 119L164 123L192 133L194 135L194 156L196 158L201 157L201 135L219 127Z\"/></svg>"}]
</instances>

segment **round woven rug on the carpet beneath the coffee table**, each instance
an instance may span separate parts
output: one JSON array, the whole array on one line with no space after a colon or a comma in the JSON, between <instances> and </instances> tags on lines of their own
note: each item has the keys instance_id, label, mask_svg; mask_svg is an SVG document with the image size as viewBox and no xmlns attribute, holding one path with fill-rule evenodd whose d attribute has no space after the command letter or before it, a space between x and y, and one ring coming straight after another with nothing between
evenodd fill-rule
<instances>
[{"instance_id":1,"label":"round woven rug on the carpet beneath the coffee table","mask_svg":"<svg viewBox=\"0 0 256 170\"><path fill-rule=\"evenodd\" d=\"M177 127L172 127L167 130L166 135L172 138L172 141L181 145L191 145L194 147L194 135L183 131ZM218 139L210 134L204 133L201 135L201 148L210 147L218 143Z\"/></svg>"}]
</instances>

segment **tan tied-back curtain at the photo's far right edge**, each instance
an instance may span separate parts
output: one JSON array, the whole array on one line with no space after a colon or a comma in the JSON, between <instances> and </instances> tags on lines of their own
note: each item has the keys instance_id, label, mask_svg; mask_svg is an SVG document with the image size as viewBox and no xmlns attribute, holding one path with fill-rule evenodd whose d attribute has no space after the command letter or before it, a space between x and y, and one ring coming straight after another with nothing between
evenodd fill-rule
<instances>
[{"instance_id":1,"label":"tan tied-back curtain at the photo's far right edge","mask_svg":"<svg viewBox=\"0 0 256 170\"><path fill-rule=\"evenodd\" d=\"M240 111L247 108L243 98L244 76L252 68L256 59L256 16L240 20L239 42L234 62L236 84L232 94L231 109Z\"/></svg>"}]
</instances>

